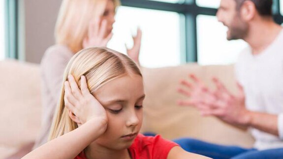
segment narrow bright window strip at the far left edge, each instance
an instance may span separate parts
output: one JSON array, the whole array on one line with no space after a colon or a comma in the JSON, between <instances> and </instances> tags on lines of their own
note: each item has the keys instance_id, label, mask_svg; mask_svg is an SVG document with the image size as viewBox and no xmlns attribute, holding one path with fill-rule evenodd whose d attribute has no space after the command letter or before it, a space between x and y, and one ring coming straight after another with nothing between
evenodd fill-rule
<instances>
[{"instance_id":1,"label":"narrow bright window strip at the far left edge","mask_svg":"<svg viewBox=\"0 0 283 159\"><path fill-rule=\"evenodd\" d=\"M0 61L5 57L4 28L4 0L0 0Z\"/></svg>"}]
</instances>

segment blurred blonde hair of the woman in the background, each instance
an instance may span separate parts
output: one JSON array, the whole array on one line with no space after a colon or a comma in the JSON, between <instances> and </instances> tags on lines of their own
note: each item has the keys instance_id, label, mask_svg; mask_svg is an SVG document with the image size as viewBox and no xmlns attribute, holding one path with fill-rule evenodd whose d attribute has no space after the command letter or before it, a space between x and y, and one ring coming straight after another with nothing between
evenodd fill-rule
<instances>
[{"instance_id":1,"label":"blurred blonde hair of the woman in the background","mask_svg":"<svg viewBox=\"0 0 283 159\"><path fill-rule=\"evenodd\" d=\"M115 8L120 0L112 0ZM55 27L56 44L76 53L83 49L89 23L103 15L107 0L63 0Z\"/></svg>"}]
</instances>

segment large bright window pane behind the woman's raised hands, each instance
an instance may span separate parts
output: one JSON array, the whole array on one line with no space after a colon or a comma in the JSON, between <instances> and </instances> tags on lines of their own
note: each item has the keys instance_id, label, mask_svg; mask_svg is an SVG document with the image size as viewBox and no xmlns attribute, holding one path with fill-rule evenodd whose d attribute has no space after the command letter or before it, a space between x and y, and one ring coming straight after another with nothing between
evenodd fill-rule
<instances>
[{"instance_id":1,"label":"large bright window pane behind the woman's raised hands","mask_svg":"<svg viewBox=\"0 0 283 159\"><path fill-rule=\"evenodd\" d=\"M181 63L179 21L180 16L176 12L120 6L116 14L114 35L108 47L126 53L125 43L128 47L132 46L131 34L140 27L141 65L145 67L178 65Z\"/></svg>"}]
</instances>

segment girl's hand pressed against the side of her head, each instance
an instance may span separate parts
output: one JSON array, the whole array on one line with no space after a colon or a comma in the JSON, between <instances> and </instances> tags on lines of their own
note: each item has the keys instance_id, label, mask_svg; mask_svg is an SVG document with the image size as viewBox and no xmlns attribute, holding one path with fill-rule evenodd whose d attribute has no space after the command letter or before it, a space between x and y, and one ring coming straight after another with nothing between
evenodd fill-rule
<instances>
[{"instance_id":1,"label":"girl's hand pressed against the side of her head","mask_svg":"<svg viewBox=\"0 0 283 159\"><path fill-rule=\"evenodd\" d=\"M90 93L85 76L81 76L81 89L79 89L74 77L69 75L68 81L64 83L64 90L65 106L74 114L74 119L71 118L76 120L76 123L84 124L90 120L97 120L97 122L102 122L101 124L106 130L106 111L94 95Z\"/></svg>"}]
</instances>

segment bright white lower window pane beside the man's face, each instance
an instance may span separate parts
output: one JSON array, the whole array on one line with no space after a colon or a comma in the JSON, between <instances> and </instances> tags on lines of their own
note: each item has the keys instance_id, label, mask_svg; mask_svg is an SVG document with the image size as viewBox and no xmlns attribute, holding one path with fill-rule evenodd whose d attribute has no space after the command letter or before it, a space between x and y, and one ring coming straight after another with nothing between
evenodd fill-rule
<instances>
[{"instance_id":1,"label":"bright white lower window pane beside the man's face","mask_svg":"<svg viewBox=\"0 0 283 159\"><path fill-rule=\"evenodd\" d=\"M247 44L226 39L227 28L215 16L197 16L198 64L232 64Z\"/></svg>"}]
</instances>

